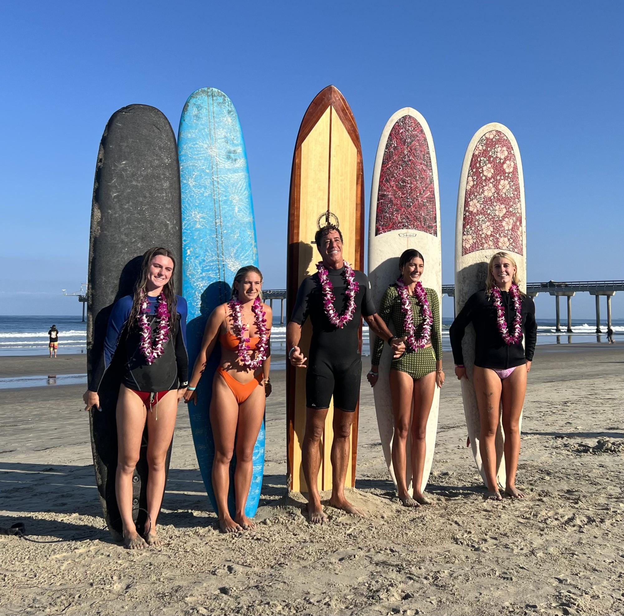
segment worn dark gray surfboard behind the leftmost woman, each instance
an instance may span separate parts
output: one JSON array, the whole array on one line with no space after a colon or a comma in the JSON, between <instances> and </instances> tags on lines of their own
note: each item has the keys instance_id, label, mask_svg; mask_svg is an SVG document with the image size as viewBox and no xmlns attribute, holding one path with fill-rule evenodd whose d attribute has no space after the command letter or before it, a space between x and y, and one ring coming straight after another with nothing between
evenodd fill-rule
<instances>
[{"instance_id":1,"label":"worn dark gray surfboard behind the leftmost woman","mask_svg":"<svg viewBox=\"0 0 624 616\"><path fill-rule=\"evenodd\" d=\"M104 129L95 167L89 243L87 373L102 354L114 303L134 292L142 256L163 246L176 256L175 290L182 289L180 168L173 130L154 107L129 105L115 112ZM115 358L100 385L102 410L89 412L97 489L106 523L121 539L115 498L120 385ZM132 517L142 534L147 520L147 430L133 478ZM167 472L171 446L167 454Z\"/></svg>"}]
</instances>

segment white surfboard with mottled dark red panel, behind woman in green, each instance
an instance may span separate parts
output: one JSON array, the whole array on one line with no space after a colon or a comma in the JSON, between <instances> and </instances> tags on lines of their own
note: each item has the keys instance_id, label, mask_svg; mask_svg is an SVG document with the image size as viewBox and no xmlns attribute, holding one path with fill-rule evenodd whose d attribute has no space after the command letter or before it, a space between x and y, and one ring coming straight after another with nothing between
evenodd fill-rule
<instances>
[{"instance_id":1,"label":"white surfboard with mottled dark red panel, behind woman in green","mask_svg":"<svg viewBox=\"0 0 624 616\"><path fill-rule=\"evenodd\" d=\"M368 276L375 306L379 309L384 292L399 276L399 257L408 248L416 248L424 256L422 284L434 289L441 302L442 246L436 151L429 125L416 109L399 109L381 133L373 170L370 208ZM390 327L392 329L392 325ZM439 335L442 335L441 330ZM376 336L371 334L371 354L375 340ZM392 353L386 345L373 393L381 446L388 471L396 485L392 467L394 420L389 382L391 361ZM427 420L427 453L422 490L431 473L439 400L440 390L436 387ZM407 438L406 453L406 483L412 494L411 436Z\"/></svg>"}]
</instances>

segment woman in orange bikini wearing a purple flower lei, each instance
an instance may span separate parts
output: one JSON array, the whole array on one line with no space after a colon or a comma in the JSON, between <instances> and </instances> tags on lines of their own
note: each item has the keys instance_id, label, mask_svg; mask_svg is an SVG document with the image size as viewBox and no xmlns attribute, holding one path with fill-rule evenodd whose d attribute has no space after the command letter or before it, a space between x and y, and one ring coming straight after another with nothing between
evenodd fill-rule
<instances>
[{"instance_id":1,"label":"woman in orange bikini wearing a purple flower lei","mask_svg":"<svg viewBox=\"0 0 624 616\"><path fill-rule=\"evenodd\" d=\"M253 472L253 447L265 414L265 397L271 394L269 337L273 312L260 299L261 287L262 274L257 267L241 267L236 272L232 299L217 306L208 319L202 349L195 360L184 396L186 402L197 403L195 388L208 357L219 342L221 362L212 381L210 424L215 439L212 485L223 532L237 532L254 526L253 521L245 516L245 504ZM236 513L232 519L227 500L235 441Z\"/></svg>"}]
</instances>

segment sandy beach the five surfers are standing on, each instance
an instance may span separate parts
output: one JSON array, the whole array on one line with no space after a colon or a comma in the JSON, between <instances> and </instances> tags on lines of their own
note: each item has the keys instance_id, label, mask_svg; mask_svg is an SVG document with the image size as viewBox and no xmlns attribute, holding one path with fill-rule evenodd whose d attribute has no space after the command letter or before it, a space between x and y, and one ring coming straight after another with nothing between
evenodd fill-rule
<instances>
[{"instance_id":1,"label":"sandy beach the five surfers are standing on","mask_svg":"<svg viewBox=\"0 0 624 616\"><path fill-rule=\"evenodd\" d=\"M84 355L0 357L0 376L85 372ZM368 358L364 362L368 370ZM622 344L540 345L519 486L484 501L446 354L435 503L402 508L363 380L358 481L368 511L310 526L286 489L285 372L271 374L255 531L225 536L178 413L158 520L165 546L125 550L104 529L83 385L0 390L0 614L624 614ZM612 445L609 445L612 443Z\"/></svg>"}]
</instances>

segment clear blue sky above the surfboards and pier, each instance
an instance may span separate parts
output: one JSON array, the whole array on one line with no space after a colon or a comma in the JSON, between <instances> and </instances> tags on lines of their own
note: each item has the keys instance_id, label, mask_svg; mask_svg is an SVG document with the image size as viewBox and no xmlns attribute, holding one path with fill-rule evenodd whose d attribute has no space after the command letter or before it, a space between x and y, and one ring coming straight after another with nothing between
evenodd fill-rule
<instances>
[{"instance_id":1,"label":"clear blue sky above the surfboards and pier","mask_svg":"<svg viewBox=\"0 0 624 616\"><path fill-rule=\"evenodd\" d=\"M522 154L529 281L624 278L623 2L4 2L0 24L0 314L79 312L61 289L85 281L105 123L145 103L177 133L205 86L240 115L268 288L285 284L298 128L328 84L358 122L367 220L386 120L408 105L427 119L444 282L464 152L487 122ZM554 314L553 298L536 305ZM593 306L581 294L573 316ZM624 294L613 309L624 316Z\"/></svg>"}]
</instances>

